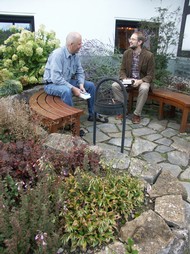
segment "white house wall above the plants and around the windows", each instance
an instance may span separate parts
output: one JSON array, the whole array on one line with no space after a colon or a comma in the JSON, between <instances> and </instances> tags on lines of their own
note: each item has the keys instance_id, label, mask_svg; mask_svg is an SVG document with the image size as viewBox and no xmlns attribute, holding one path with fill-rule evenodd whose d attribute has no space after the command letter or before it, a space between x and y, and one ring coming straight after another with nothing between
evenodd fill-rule
<instances>
[{"instance_id":1,"label":"white house wall above the plants and around the windows","mask_svg":"<svg viewBox=\"0 0 190 254\"><path fill-rule=\"evenodd\" d=\"M35 30L45 25L62 45L71 31L114 45L116 19L149 20L156 7L172 11L178 6L183 10L184 0L0 0L0 14L33 15Z\"/></svg>"}]
</instances>

